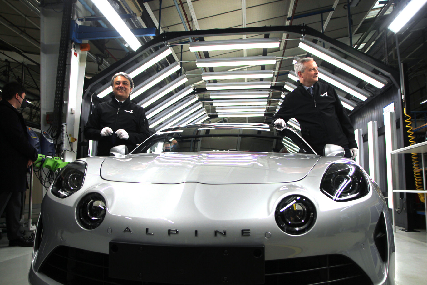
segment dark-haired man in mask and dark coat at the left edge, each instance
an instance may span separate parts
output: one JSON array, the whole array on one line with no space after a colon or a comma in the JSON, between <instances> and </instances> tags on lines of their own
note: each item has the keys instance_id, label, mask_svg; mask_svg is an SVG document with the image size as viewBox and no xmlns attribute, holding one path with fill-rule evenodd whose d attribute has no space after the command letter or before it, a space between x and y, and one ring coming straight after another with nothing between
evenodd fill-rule
<instances>
[{"instance_id":1,"label":"dark-haired man in mask and dark coat at the left edge","mask_svg":"<svg viewBox=\"0 0 427 285\"><path fill-rule=\"evenodd\" d=\"M38 153L29 143L22 114L25 108L25 89L17 82L3 86L0 101L0 215L6 212L6 230L9 246L32 247L19 232L22 195L26 191L28 167Z\"/></svg>"}]
</instances>

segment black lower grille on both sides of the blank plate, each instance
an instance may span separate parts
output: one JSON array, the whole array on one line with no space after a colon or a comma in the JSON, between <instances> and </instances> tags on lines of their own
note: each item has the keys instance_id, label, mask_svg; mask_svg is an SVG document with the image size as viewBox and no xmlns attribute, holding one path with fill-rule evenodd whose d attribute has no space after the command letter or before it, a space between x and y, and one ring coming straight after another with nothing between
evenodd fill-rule
<instances>
[{"instance_id":1,"label":"black lower grille on both sides of the blank plate","mask_svg":"<svg viewBox=\"0 0 427 285\"><path fill-rule=\"evenodd\" d=\"M61 284L160 285L108 277L108 254L57 247L41 273ZM372 285L363 270L346 256L332 254L265 261L265 285Z\"/></svg>"}]
</instances>

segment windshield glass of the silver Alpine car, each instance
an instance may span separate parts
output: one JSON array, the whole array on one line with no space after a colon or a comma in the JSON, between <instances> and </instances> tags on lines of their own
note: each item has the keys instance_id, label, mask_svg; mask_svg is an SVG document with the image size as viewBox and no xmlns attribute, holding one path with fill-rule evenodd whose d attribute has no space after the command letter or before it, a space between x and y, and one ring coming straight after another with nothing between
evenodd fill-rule
<instances>
[{"instance_id":1,"label":"windshield glass of the silver Alpine car","mask_svg":"<svg viewBox=\"0 0 427 285\"><path fill-rule=\"evenodd\" d=\"M314 154L292 129L258 125L193 125L166 129L140 144L135 153L251 151Z\"/></svg>"}]
</instances>

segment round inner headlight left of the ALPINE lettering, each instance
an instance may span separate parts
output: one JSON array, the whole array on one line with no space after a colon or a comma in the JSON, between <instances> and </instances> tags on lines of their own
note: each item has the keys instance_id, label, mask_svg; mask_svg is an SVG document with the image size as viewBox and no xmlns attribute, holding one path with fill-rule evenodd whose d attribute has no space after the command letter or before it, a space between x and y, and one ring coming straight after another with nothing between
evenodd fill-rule
<instances>
[{"instance_id":1,"label":"round inner headlight left of the ALPINE lettering","mask_svg":"<svg viewBox=\"0 0 427 285\"><path fill-rule=\"evenodd\" d=\"M77 220L85 229L95 229L104 220L106 210L105 199L101 194L87 194L77 206Z\"/></svg>"}]
</instances>

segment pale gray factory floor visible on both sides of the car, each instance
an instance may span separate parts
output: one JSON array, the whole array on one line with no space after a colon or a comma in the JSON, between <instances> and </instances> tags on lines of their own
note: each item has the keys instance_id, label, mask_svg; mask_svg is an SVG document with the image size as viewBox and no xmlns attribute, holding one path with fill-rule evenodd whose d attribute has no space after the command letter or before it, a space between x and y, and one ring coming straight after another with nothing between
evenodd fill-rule
<instances>
[{"instance_id":1,"label":"pale gray factory floor visible on both sides of the car","mask_svg":"<svg viewBox=\"0 0 427 285\"><path fill-rule=\"evenodd\" d=\"M396 285L427 285L427 234L395 232ZM32 248L8 247L5 235L0 240L0 284L28 285Z\"/></svg>"}]
</instances>

